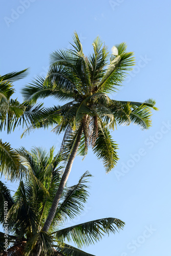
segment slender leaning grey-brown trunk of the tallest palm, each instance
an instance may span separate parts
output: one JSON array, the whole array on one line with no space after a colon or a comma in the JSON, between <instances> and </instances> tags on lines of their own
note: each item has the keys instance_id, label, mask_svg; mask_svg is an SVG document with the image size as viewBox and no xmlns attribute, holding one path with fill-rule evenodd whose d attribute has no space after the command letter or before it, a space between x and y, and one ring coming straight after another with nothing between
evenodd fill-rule
<instances>
[{"instance_id":1,"label":"slender leaning grey-brown trunk of the tallest palm","mask_svg":"<svg viewBox=\"0 0 171 256\"><path fill-rule=\"evenodd\" d=\"M83 127L82 127L82 124L81 124L80 129L78 130L78 134L77 134L75 144L73 146L73 151L72 151L72 153L69 157L65 172L62 175L58 190L56 192L55 198L54 198L53 203L52 203L52 207L49 211L49 215L48 215L47 220L46 220L46 222L44 224L44 227L42 229L45 232L48 232L48 230L51 226L51 223L52 223L52 221L55 217L55 213L56 213L56 210L57 210L57 206L58 206L60 197L62 195L63 189L65 188L66 182L67 182L69 174L71 172L71 168L72 168L74 158L75 158L75 156L77 154L77 151L78 151L78 146L80 144L82 132L83 132ZM34 254L34 256L39 256L40 253L41 253L41 248L39 249L39 251L37 253Z\"/></svg>"}]
</instances>

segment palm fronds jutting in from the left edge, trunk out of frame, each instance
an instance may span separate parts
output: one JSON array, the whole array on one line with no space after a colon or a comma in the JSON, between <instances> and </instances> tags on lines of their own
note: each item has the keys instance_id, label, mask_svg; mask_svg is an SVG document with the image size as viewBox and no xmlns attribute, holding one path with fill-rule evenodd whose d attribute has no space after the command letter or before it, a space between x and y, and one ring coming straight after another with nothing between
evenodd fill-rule
<instances>
[{"instance_id":1,"label":"palm fronds jutting in from the left edge, trunk out of frame","mask_svg":"<svg viewBox=\"0 0 171 256\"><path fill-rule=\"evenodd\" d=\"M27 75L27 69L19 72L11 72L0 76L0 131L3 129L10 133L18 125L28 125L34 120L41 105L30 106L28 102L19 103L17 99L11 99L15 90L13 82ZM7 142L0 140L0 172L11 181L20 177L19 157Z\"/></svg>"}]
</instances>

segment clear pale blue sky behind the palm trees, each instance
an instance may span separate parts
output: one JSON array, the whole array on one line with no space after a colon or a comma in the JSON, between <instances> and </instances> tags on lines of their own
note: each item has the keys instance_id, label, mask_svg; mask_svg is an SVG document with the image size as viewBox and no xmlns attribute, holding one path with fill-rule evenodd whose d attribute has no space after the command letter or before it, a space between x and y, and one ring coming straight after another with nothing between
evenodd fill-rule
<instances>
[{"instance_id":1,"label":"clear pale blue sky behind the palm trees","mask_svg":"<svg viewBox=\"0 0 171 256\"><path fill-rule=\"evenodd\" d=\"M27 2L27 4L26 4ZM1 1L1 75L30 67L29 76L16 82L20 89L34 76L46 75L49 54L68 48L77 31L84 53L92 51L99 35L109 49L126 41L135 52L137 66L123 82L113 99L144 101L154 98L153 126L141 131L138 126L118 126L113 133L119 144L120 160L105 174L102 163L90 151L82 161L77 157L69 178L75 184L89 170L91 196L86 212L75 222L115 217L126 225L84 250L111 256L170 255L170 1L137 0L22 0ZM22 5L23 3L23 5ZM25 6L25 7L23 7ZM46 105L55 104L46 100ZM36 145L47 150L60 138L48 131L35 131L20 139L22 127L3 141L14 148ZM9 185L12 188L13 185ZM70 223L71 224L71 223Z\"/></svg>"}]
</instances>

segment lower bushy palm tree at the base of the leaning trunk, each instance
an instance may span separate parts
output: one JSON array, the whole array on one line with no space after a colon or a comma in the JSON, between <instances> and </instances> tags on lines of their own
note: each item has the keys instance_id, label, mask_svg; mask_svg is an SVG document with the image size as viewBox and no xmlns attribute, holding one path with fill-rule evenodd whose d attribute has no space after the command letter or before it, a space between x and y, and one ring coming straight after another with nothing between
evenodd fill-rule
<instances>
[{"instance_id":1,"label":"lower bushy palm tree at the base of the leaning trunk","mask_svg":"<svg viewBox=\"0 0 171 256\"><path fill-rule=\"evenodd\" d=\"M20 180L18 189L11 196L10 190L0 182L0 223L8 223L9 248L4 251L5 233L0 232L0 255L35 255L41 248L41 255L93 256L80 248L99 241L104 234L115 233L123 228L124 222L115 218L105 218L62 228L68 219L74 219L83 210L89 193L86 172L78 184L65 187L49 233L42 231L61 180L61 157L53 157L41 148L33 148L29 153L25 148L17 151L21 168L27 170L26 178ZM4 207L6 205L6 209ZM8 212L7 219L4 213ZM78 248L67 242L73 241Z\"/></svg>"}]
</instances>

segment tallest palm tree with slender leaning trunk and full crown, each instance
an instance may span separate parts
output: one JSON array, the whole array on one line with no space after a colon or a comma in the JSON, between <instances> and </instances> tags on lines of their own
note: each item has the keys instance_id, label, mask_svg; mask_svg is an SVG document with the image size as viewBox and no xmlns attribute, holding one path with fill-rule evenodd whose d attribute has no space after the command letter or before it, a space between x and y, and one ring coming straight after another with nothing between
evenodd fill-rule
<instances>
[{"instance_id":1,"label":"tallest palm tree with slender leaning trunk and full crown","mask_svg":"<svg viewBox=\"0 0 171 256\"><path fill-rule=\"evenodd\" d=\"M78 152L85 156L88 147L101 159L106 172L116 165L118 145L110 135L116 125L138 124L142 129L151 126L153 99L144 102L117 101L108 94L116 92L127 71L134 65L133 52L126 52L122 43L108 48L97 37L93 42L94 53L85 56L78 35L75 33L72 50L60 50L51 54L51 66L46 78L38 77L23 89L26 100L35 103L38 98L52 96L64 100L44 110L39 122L33 122L25 132L36 127L54 125L56 134L65 132L62 155L67 162L57 194L54 198L44 231L48 231L55 216L58 202ZM38 254L37 254L38 255Z\"/></svg>"}]
</instances>

